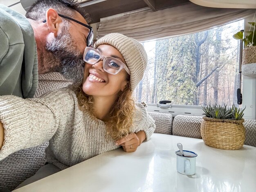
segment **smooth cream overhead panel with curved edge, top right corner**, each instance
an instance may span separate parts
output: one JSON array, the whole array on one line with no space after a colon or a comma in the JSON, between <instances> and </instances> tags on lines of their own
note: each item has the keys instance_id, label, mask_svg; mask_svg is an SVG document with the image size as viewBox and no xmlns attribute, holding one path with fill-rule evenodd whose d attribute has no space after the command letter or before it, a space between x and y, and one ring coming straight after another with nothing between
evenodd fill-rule
<instances>
[{"instance_id":1,"label":"smooth cream overhead panel with curved edge, top right corner","mask_svg":"<svg viewBox=\"0 0 256 192\"><path fill-rule=\"evenodd\" d=\"M190 0L204 7L256 9L256 0Z\"/></svg>"}]
</instances>

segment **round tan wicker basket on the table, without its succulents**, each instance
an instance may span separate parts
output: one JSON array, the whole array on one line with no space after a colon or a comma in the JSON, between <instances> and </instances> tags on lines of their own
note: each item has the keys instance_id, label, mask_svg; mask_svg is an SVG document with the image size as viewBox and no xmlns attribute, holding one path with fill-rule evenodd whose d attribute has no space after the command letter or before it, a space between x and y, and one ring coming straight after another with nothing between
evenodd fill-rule
<instances>
[{"instance_id":1,"label":"round tan wicker basket on the table, without its succulents","mask_svg":"<svg viewBox=\"0 0 256 192\"><path fill-rule=\"evenodd\" d=\"M238 150L245 143L245 120L203 117L201 135L204 143L222 150Z\"/></svg>"}]
</instances>

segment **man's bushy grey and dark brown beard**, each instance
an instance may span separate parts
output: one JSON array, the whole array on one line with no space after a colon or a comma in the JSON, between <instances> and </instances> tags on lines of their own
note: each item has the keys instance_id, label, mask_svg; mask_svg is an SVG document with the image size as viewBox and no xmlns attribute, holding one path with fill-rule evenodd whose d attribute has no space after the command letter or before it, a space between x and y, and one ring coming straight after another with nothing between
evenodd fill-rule
<instances>
[{"instance_id":1,"label":"man's bushy grey and dark brown beard","mask_svg":"<svg viewBox=\"0 0 256 192\"><path fill-rule=\"evenodd\" d=\"M46 59L47 62L44 65L48 66L51 71L57 71L65 78L72 80L74 85L80 85L83 80L85 62L76 42L68 32L68 26L65 25L61 34L52 42L46 43L45 50L48 51L49 59Z\"/></svg>"}]
</instances>

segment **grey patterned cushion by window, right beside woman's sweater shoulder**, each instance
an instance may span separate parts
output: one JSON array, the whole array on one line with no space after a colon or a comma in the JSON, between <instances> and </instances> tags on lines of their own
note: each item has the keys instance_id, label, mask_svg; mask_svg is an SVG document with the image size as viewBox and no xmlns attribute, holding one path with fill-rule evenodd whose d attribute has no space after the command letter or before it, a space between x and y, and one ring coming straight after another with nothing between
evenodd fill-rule
<instances>
[{"instance_id":1,"label":"grey patterned cushion by window, right beside woman's sweater shoulder","mask_svg":"<svg viewBox=\"0 0 256 192\"><path fill-rule=\"evenodd\" d=\"M167 113L148 112L148 114L155 120L155 132L162 134L172 134L173 116Z\"/></svg>"}]
</instances>

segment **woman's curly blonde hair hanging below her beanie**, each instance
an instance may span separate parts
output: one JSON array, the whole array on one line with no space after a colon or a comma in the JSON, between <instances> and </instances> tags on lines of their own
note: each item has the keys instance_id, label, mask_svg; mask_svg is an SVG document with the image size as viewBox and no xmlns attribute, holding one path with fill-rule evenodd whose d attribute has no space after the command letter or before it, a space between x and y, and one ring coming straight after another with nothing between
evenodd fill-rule
<instances>
[{"instance_id":1,"label":"woman's curly blonde hair hanging below her beanie","mask_svg":"<svg viewBox=\"0 0 256 192\"><path fill-rule=\"evenodd\" d=\"M124 91L118 93L109 112L110 118L106 121L106 136L111 136L115 141L130 134L133 125L135 101L130 89L129 76L126 80L128 81L126 87ZM82 85L72 89L76 93L80 110L89 112L92 118L97 119L93 108L93 97L83 92Z\"/></svg>"}]
</instances>

